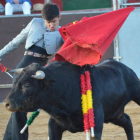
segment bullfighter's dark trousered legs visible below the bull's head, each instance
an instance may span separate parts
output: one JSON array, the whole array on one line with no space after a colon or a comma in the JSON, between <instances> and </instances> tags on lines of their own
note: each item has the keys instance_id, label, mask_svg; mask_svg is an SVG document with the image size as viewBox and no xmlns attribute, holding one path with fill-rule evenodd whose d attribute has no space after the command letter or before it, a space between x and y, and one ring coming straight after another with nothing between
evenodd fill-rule
<instances>
[{"instance_id":1,"label":"bullfighter's dark trousered legs visible below the bull's head","mask_svg":"<svg viewBox=\"0 0 140 140\"><path fill-rule=\"evenodd\" d=\"M23 134L20 134L20 130L24 127L27 120L26 114L24 112L11 114L3 140L28 140L28 129Z\"/></svg>"}]
</instances>

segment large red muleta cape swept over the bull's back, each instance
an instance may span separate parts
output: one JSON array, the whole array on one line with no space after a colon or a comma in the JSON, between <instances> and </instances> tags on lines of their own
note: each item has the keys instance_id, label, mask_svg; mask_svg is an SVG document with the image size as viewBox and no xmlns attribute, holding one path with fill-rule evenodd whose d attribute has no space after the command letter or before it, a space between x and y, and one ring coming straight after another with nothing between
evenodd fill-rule
<instances>
[{"instance_id":1,"label":"large red muleta cape swept over the bull's back","mask_svg":"<svg viewBox=\"0 0 140 140\"><path fill-rule=\"evenodd\" d=\"M133 7L129 7L99 16L84 17L76 24L61 27L59 32L65 43L54 60L69 61L80 66L97 64L133 10Z\"/></svg>"}]
</instances>

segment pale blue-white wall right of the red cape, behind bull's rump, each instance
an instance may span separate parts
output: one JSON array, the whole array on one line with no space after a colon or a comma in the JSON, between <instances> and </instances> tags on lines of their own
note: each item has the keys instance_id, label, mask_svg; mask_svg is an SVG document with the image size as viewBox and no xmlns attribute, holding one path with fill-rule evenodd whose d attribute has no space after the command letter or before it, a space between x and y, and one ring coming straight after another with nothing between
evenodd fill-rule
<instances>
[{"instance_id":1,"label":"pale blue-white wall right of the red cape, behind bull's rump","mask_svg":"<svg viewBox=\"0 0 140 140\"><path fill-rule=\"evenodd\" d=\"M130 13L119 33L120 62L133 69L140 78L140 8Z\"/></svg>"}]
</instances>

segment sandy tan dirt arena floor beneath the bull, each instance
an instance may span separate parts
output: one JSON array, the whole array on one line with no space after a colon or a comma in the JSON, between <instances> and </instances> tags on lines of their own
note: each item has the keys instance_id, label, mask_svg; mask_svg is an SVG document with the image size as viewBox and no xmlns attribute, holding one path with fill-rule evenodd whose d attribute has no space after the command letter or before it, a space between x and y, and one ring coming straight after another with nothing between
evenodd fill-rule
<instances>
[{"instance_id":1,"label":"sandy tan dirt arena floor beneath the bull","mask_svg":"<svg viewBox=\"0 0 140 140\"><path fill-rule=\"evenodd\" d=\"M134 126L135 140L140 140L140 107L134 102L130 102L125 112L130 115ZM4 131L9 120L11 112L4 109L0 104L0 140L2 140ZM28 113L28 116L30 114ZM29 127L29 140L47 140L48 136L48 119L49 115L41 111L33 124ZM62 140L86 140L85 133L64 132ZM113 124L104 124L102 140L127 140L125 132L122 128Z\"/></svg>"}]
</instances>

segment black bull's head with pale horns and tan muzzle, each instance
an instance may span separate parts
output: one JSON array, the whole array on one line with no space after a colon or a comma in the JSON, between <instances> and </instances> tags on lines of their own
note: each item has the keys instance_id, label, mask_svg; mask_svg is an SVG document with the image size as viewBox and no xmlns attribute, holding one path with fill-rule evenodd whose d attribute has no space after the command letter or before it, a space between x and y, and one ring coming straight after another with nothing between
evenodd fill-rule
<instances>
[{"instance_id":1,"label":"black bull's head with pale horns and tan muzzle","mask_svg":"<svg viewBox=\"0 0 140 140\"><path fill-rule=\"evenodd\" d=\"M13 88L4 101L9 111L35 111L40 108L41 92L53 80L47 80L43 68L33 63L24 69L11 70L19 73L14 80Z\"/></svg>"}]
</instances>

